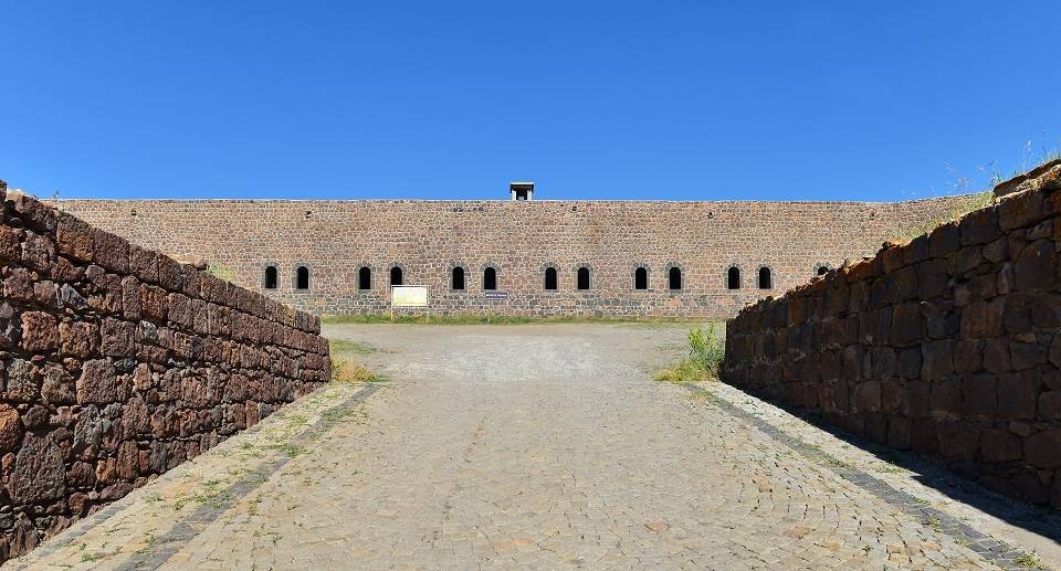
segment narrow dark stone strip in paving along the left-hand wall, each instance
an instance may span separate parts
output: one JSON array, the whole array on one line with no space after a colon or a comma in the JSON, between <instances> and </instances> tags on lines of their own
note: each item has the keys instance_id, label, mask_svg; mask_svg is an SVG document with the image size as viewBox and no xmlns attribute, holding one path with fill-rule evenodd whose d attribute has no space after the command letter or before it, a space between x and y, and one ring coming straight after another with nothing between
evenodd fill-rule
<instances>
[{"instance_id":1,"label":"narrow dark stone strip in paving along the left-hand wall","mask_svg":"<svg viewBox=\"0 0 1061 571\"><path fill-rule=\"evenodd\" d=\"M348 409L365 399L371 396L380 388L379 384L371 384L356 393L348 396L346 400L339 404L332 406L328 411L335 411L340 409ZM297 436L291 440L291 443L298 446L304 446L309 444L328 431L334 425L333 421L325 419L322 414L316 422L313 423L309 427L302 431ZM261 426L261 424L259 424ZM245 433L244 433L245 434ZM117 567L119 571L132 571L140 569L158 569L166 561L169 560L175 553L180 551L185 544L188 543L192 538L195 538L199 532L206 529L210 524L216 521L222 514L228 511L232 506L243 499L248 494L260 487L262 484L269 480L274 474L276 474L281 468L284 467L288 462L291 462L294 456L285 455L281 458L273 461L272 463L265 464L262 466L262 469L255 470L255 476L250 478L243 478L237 482L235 484L229 486L225 489L228 494L227 499L220 505L210 505L204 504L196 509L192 514L188 515L182 520L179 520L169 531L165 535L159 536L155 542L159 546L159 549L151 549L143 552L133 553L128 560ZM262 479L261 476L266 476ZM101 511L102 512L102 511Z\"/></svg>"}]
</instances>

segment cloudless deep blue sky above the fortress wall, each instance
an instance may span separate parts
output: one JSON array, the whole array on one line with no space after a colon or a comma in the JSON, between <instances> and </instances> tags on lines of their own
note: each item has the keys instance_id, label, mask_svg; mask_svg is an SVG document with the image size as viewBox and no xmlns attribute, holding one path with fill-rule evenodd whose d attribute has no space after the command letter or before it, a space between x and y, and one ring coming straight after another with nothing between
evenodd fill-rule
<instances>
[{"instance_id":1,"label":"cloudless deep blue sky above the fortress wall","mask_svg":"<svg viewBox=\"0 0 1061 571\"><path fill-rule=\"evenodd\" d=\"M0 0L0 178L65 198L530 179L542 199L901 200L1061 147L1061 3L811 4Z\"/></svg>"}]
</instances>

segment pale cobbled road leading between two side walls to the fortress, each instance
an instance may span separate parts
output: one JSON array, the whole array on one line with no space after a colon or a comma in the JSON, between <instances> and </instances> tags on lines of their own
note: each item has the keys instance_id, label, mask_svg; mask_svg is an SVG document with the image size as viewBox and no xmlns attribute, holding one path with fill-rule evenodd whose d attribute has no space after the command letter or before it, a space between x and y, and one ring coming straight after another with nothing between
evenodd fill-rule
<instances>
[{"instance_id":1,"label":"pale cobbled road leading between two side walls to the fortress","mask_svg":"<svg viewBox=\"0 0 1061 571\"><path fill-rule=\"evenodd\" d=\"M685 330L333 328L386 349L365 359L391 380L318 391L11 564L994 568L716 396L650 381Z\"/></svg>"}]
</instances>

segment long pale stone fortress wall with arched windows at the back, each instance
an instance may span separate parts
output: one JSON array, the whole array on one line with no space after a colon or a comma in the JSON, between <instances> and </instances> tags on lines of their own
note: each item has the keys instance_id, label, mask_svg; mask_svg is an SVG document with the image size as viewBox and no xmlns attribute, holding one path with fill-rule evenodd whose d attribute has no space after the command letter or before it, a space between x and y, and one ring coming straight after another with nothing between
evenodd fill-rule
<instances>
[{"instance_id":1,"label":"long pale stone fortress wall with arched windows at the back","mask_svg":"<svg viewBox=\"0 0 1061 571\"><path fill-rule=\"evenodd\" d=\"M643 201L62 200L62 210L135 243L198 256L234 281L316 314L389 310L389 271L430 289L435 315L727 318L746 303L806 283L878 250L883 240L946 218L967 197L900 203ZM276 289L263 288L275 265ZM295 288L296 267L309 288ZM371 269L370 288L358 272ZM465 269L453 290L451 271ZM507 300L487 299L492 266ZM547 266L558 287L545 289ZM576 272L589 269L589 289ZM634 289L644 266L649 288ZM669 288L669 269L682 273ZM740 288L728 289L731 266ZM771 287L757 287L759 268Z\"/></svg>"}]
</instances>

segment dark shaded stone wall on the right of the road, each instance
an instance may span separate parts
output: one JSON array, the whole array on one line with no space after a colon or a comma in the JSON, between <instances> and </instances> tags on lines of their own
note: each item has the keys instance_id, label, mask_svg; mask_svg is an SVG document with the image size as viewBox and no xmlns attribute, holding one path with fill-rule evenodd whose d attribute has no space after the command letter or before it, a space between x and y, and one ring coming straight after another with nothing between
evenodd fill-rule
<instances>
[{"instance_id":1,"label":"dark shaded stone wall on the right of the road","mask_svg":"<svg viewBox=\"0 0 1061 571\"><path fill-rule=\"evenodd\" d=\"M1061 508L1061 167L744 309L723 380Z\"/></svg>"}]
</instances>

